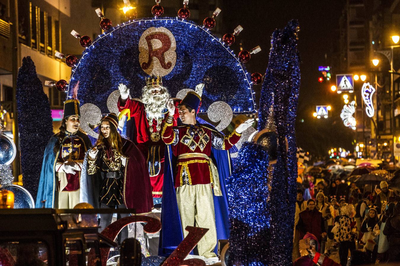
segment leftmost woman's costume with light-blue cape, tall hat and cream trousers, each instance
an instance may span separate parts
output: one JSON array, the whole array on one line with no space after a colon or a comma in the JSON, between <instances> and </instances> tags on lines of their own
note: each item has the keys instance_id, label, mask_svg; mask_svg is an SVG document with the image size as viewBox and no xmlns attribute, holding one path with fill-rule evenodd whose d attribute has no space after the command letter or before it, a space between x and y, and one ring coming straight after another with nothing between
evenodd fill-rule
<instances>
[{"instance_id":1,"label":"leftmost woman's costume with light-blue cape, tall hat and cream trousers","mask_svg":"<svg viewBox=\"0 0 400 266\"><path fill-rule=\"evenodd\" d=\"M70 99L64 102L64 117L79 116L79 100ZM42 171L38 194L36 196L36 208L73 209L80 202L80 178L82 163L86 151L92 147L88 136L78 129L76 133L66 131L59 147L54 153L54 146L59 134L50 138L44 151ZM74 163L74 173L66 172L68 163Z\"/></svg>"}]
</instances>

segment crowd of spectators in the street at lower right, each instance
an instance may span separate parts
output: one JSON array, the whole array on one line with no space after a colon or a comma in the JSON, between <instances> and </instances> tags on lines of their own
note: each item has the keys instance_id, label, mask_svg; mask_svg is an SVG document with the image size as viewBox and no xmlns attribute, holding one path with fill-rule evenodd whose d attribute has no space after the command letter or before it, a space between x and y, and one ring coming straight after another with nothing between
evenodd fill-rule
<instances>
[{"instance_id":1,"label":"crowd of spectators in the street at lower right","mask_svg":"<svg viewBox=\"0 0 400 266\"><path fill-rule=\"evenodd\" d=\"M304 168L299 169L292 252L295 266L400 262L396 189L387 181L375 186L358 183L346 172L302 173Z\"/></svg>"}]
</instances>

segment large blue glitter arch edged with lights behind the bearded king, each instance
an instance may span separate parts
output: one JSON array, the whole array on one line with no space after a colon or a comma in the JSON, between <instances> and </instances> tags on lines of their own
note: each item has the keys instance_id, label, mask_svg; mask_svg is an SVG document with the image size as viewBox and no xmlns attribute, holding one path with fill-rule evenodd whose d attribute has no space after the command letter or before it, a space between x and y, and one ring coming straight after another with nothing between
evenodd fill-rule
<instances>
[{"instance_id":1,"label":"large blue glitter arch edged with lights behind the bearded king","mask_svg":"<svg viewBox=\"0 0 400 266\"><path fill-rule=\"evenodd\" d=\"M102 113L108 112L107 98L119 83L140 97L148 75L140 67L138 43L150 27L167 28L176 39L176 65L163 77L172 97L205 83L200 112L215 101L228 103L236 113L255 111L250 74L230 47L208 29L178 18L132 20L99 35L73 67L67 98L78 81L80 104L95 104Z\"/></svg>"}]
</instances>

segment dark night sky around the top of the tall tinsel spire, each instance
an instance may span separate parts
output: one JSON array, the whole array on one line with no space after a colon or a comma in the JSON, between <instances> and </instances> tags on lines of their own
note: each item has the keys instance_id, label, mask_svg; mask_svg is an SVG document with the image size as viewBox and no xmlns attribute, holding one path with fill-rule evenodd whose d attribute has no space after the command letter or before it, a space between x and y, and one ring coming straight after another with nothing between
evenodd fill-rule
<instances>
[{"instance_id":1,"label":"dark night sky around the top of the tall tinsel spire","mask_svg":"<svg viewBox=\"0 0 400 266\"><path fill-rule=\"evenodd\" d=\"M226 32L233 32L239 24L244 28L232 45L234 51L239 51L240 41L244 49L257 45L262 48L247 63L249 72L265 73L272 32L276 28L284 28L291 19L299 21L301 87L296 137L298 146L314 156L327 156L328 150L333 147L352 150L354 132L343 125L339 116L344 105L342 96L330 91L330 83L318 82L318 66L332 66L337 58L334 51L338 51L339 18L343 6L342 0L237 0L224 1L221 8ZM333 71L334 74L339 72L338 69L338 72ZM259 96L261 85L254 86L254 89ZM332 105L329 118L312 116L316 105L327 104ZM304 122L301 122L302 119Z\"/></svg>"}]
</instances>

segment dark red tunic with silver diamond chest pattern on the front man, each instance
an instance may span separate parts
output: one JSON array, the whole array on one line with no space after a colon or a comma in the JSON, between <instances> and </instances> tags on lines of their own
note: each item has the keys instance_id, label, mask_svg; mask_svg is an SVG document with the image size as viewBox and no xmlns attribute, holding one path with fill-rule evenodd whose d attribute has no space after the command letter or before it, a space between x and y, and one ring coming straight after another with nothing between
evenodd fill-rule
<instances>
[{"instance_id":1,"label":"dark red tunic with silver diamond chest pattern on the front man","mask_svg":"<svg viewBox=\"0 0 400 266\"><path fill-rule=\"evenodd\" d=\"M228 136L214 131L205 125L184 125L173 127L172 124L164 124L162 139L166 144L172 145L174 156L190 153L211 155L211 147L220 150L229 150L240 139L241 134L236 131ZM213 177L209 161L201 156L191 158L178 158L175 175L175 188L184 184L210 184Z\"/></svg>"}]
</instances>

